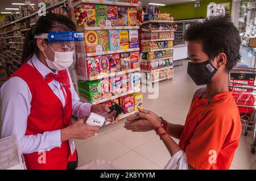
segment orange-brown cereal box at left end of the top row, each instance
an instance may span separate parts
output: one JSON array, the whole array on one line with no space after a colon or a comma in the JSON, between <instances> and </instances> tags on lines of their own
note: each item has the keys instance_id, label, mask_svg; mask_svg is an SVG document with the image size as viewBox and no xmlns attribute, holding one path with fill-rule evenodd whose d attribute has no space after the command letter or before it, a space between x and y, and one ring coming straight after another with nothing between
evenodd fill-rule
<instances>
[{"instance_id":1,"label":"orange-brown cereal box at left end of the top row","mask_svg":"<svg viewBox=\"0 0 256 181\"><path fill-rule=\"evenodd\" d=\"M84 9L84 27L95 27L96 26L96 13L95 5L92 4L82 4L82 9Z\"/></svg>"}]
</instances>

